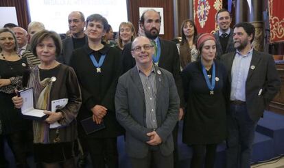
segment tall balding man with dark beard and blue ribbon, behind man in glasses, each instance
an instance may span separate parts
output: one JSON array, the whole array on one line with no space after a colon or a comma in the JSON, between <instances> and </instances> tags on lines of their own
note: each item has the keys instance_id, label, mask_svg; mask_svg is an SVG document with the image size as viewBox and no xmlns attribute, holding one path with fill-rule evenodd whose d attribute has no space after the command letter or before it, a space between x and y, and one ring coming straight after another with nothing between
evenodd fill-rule
<instances>
[{"instance_id":1,"label":"tall balding man with dark beard and blue ribbon, behind man in glasses","mask_svg":"<svg viewBox=\"0 0 284 168\"><path fill-rule=\"evenodd\" d=\"M143 12L140 20L139 27L143 31L143 35L152 40L152 43L156 45L156 51L153 55L154 64L158 67L164 68L171 72L174 76L176 87L178 88L178 94L180 96L180 113L179 120L183 115L183 91L182 81L180 77L180 57L178 55L178 49L174 42L163 40L158 37L161 27L161 16L156 10L146 10ZM131 44L127 44L123 49L123 72L128 71L135 66L135 60L131 55ZM178 124L173 131L174 136L174 165L178 167Z\"/></svg>"}]
</instances>

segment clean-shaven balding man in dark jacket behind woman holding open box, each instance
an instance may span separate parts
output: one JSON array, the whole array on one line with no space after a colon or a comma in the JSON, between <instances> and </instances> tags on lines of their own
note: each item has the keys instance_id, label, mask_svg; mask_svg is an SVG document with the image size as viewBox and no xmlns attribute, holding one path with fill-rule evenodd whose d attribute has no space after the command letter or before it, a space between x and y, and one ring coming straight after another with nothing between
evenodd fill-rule
<instances>
[{"instance_id":1,"label":"clean-shaven balding man in dark jacket behind woman holding open box","mask_svg":"<svg viewBox=\"0 0 284 168\"><path fill-rule=\"evenodd\" d=\"M68 16L68 25L71 37L62 40L62 54L58 59L58 61L67 65L69 65L73 51L88 42L88 38L84 33L86 21L82 12L71 12Z\"/></svg>"}]
</instances>

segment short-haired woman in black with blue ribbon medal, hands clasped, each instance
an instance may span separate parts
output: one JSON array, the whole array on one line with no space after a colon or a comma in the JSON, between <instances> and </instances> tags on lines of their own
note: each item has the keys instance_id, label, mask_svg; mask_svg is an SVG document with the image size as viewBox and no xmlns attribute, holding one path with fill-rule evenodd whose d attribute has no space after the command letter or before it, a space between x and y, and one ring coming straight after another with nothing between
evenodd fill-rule
<instances>
[{"instance_id":1,"label":"short-haired woman in black with blue ribbon medal, hands clasped","mask_svg":"<svg viewBox=\"0 0 284 168\"><path fill-rule=\"evenodd\" d=\"M121 52L102 44L108 21L99 14L86 19L88 44L73 52L70 65L74 68L82 89L83 104L78 114L80 140L86 142L93 167L118 167L117 136L122 128L115 118L115 90L121 75ZM84 121L102 128L85 131Z\"/></svg>"}]
</instances>

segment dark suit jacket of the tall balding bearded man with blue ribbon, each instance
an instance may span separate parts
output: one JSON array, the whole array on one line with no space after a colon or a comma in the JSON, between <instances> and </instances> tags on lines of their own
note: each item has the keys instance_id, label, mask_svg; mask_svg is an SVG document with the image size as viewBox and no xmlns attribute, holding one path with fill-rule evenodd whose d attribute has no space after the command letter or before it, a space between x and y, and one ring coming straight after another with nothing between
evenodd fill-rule
<instances>
[{"instance_id":1,"label":"dark suit jacket of the tall balding bearded man with blue ribbon","mask_svg":"<svg viewBox=\"0 0 284 168\"><path fill-rule=\"evenodd\" d=\"M180 107L185 107L183 100L182 79L180 77L180 57L178 55L178 48L174 42L163 40L161 42L161 57L158 66L171 72L178 88L178 95L180 96ZM122 51L123 55L123 73L127 72L135 66L135 59L131 55L131 43L126 44Z\"/></svg>"}]
</instances>

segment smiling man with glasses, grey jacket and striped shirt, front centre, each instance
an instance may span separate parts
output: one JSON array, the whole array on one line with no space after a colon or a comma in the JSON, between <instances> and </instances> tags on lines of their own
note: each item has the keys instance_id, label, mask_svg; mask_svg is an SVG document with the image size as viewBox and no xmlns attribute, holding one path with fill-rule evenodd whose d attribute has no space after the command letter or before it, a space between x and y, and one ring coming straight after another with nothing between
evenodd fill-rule
<instances>
[{"instance_id":1,"label":"smiling man with glasses, grey jacket and striped shirt, front centre","mask_svg":"<svg viewBox=\"0 0 284 168\"><path fill-rule=\"evenodd\" d=\"M134 168L174 167L171 131L180 99L170 72L154 66L154 45L140 36L132 42L136 66L119 78L117 121L126 129L126 152Z\"/></svg>"}]
</instances>

